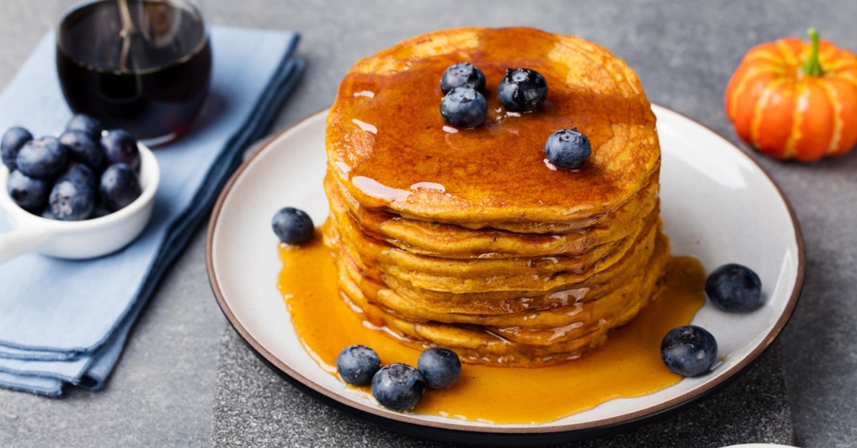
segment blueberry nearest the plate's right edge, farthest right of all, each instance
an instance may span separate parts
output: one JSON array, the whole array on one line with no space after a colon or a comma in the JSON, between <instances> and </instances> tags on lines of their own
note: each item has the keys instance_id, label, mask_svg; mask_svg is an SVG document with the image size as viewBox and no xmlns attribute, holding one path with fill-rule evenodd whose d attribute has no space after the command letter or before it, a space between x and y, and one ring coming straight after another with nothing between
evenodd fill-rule
<instances>
[{"instance_id":1,"label":"blueberry nearest the plate's right edge, farthest right of all","mask_svg":"<svg viewBox=\"0 0 857 448\"><path fill-rule=\"evenodd\" d=\"M731 263L709 274L705 294L723 311L752 311L762 304L762 281L749 267Z\"/></svg>"}]
</instances>

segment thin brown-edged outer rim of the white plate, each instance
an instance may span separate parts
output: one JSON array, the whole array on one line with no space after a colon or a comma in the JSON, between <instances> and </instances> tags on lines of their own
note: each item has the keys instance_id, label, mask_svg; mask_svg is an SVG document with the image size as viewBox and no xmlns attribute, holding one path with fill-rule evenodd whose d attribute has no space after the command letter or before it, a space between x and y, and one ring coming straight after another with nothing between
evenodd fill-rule
<instances>
[{"instance_id":1,"label":"thin brown-edged outer rim of the white plate","mask_svg":"<svg viewBox=\"0 0 857 448\"><path fill-rule=\"evenodd\" d=\"M665 112L673 114L680 119L692 122L693 124L703 128L712 138L722 140L722 142L727 146L730 146L734 152L738 153L741 158L746 159L746 162L749 162L755 169L759 170L762 176L764 176L764 180L770 182L771 186L776 191L776 195L785 206L794 230L794 242L797 248L796 276L794 278L794 289L791 291L791 295L788 298L785 308L782 310L782 314L779 315L778 319L771 327L770 332L765 335L762 342L758 343L758 345L747 355L741 358L740 361L728 367L728 372L722 373L722 375L714 381L706 382L678 397L669 398L648 408L638 409L623 415L609 416L595 421L568 423L565 425L554 426L524 426L522 424L520 426L476 427L465 426L457 423L456 421L420 420L415 415L403 413L382 413L381 409L369 406L362 402L355 400L340 400L339 395L328 393L327 388L315 383L312 379L307 378L285 362L279 360L277 356L273 355L273 353L262 343L256 340L255 337L250 334L249 330L241 324L237 319L237 315L231 310L223 291L220 289L213 260L213 246L215 244L214 235L217 230L220 212L225 204L225 200L227 200L235 183L241 178L241 176L243 176L243 173L249 169L249 166L253 164L255 158L258 158L261 153L271 148L277 141L287 138L289 134L297 133L302 128L312 125L315 120L319 119L319 116L327 114L327 107L322 108L319 111L315 111L308 116L304 116L301 120L291 124L291 126L269 136L265 140L262 140L258 149L250 154L249 157L245 158L243 163L237 168L237 170L235 170L232 176L230 176L229 180L220 191L218 199L213 206L211 218L209 219L207 226L206 236L207 274L209 284L211 285L219 308L224 313L231 326L237 331L239 336L242 337L243 342L248 345L255 355L257 355L268 367L272 368L275 373L278 373L280 377L287 380L287 382L292 385L296 385L299 390L304 393L308 393L311 397L320 400L328 406L345 411L347 414L355 415L381 427L386 427L387 429L391 429L399 433L422 436L428 439L452 442L471 441L476 443L485 443L490 441L491 443L498 445L533 443L536 441L536 439L533 439L534 437L537 437L538 441L543 443L556 443L573 439L592 439L608 433L615 433L617 430L625 431L632 427L641 426L647 422L660 419L663 416L672 414L680 409L684 409L686 406L692 405L692 403L697 403L706 397L710 397L713 391L719 390L723 386L730 384L734 379L739 378L741 373L746 372L747 367L752 365L755 361L758 361L758 358L766 349L770 348L770 345L777 337L779 337L782 330L788 324L788 321L794 314L794 309L797 306L797 302L800 299L800 295L804 287L806 277L805 242L802 231L800 230L800 222L794 212L794 207L791 205L788 197L783 193L779 184L772 176L770 176L770 173L764 169L764 166L759 164L754 158L750 157L750 155L746 151L742 150L740 146L734 144L731 140L728 140L722 134L704 123L665 106L657 105L656 103L652 103L651 107L653 111L659 110L658 113ZM658 115L658 113L656 113L656 115Z\"/></svg>"}]
</instances>

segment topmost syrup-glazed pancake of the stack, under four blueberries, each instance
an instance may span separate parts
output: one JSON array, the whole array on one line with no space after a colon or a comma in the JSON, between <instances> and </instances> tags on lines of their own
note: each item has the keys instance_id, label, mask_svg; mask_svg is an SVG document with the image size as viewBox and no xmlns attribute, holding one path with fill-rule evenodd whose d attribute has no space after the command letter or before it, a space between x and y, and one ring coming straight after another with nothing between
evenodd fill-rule
<instances>
[{"instance_id":1,"label":"topmost syrup-glazed pancake of the stack, under four blueberries","mask_svg":"<svg viewBox=\"0 0 857 448\"><path fill-rule=\"evenodd\" d=\"M473 129L440 116L440 75L462 61L487 80L488 118ZM548 81L534 112L507 112L497 99L500 79L515 68ZM544 142L560 128L590 139L581 170L544 162ZM584 39L530 28L442 30L363 59L339 86L327 152L329 170L362 206L476 226L610 212L660 164L655 116L632 69Z\"/></svg>"}]
</instances>

